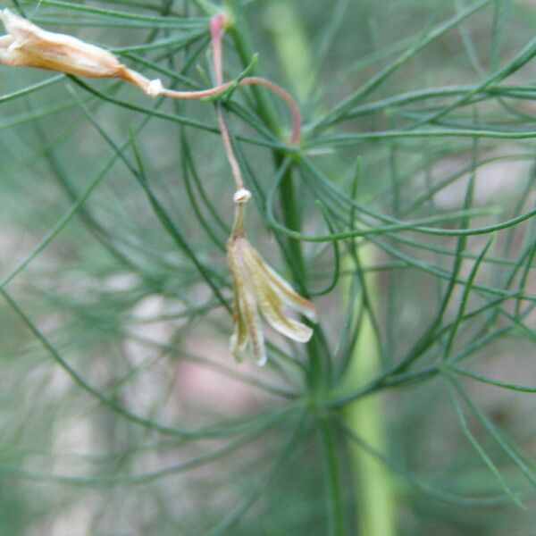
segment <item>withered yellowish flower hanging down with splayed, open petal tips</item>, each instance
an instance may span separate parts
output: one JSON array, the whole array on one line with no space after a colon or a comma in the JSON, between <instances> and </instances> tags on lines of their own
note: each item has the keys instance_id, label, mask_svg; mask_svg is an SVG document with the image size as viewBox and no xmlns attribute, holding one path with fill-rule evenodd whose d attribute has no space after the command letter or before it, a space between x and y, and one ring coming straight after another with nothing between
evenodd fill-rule
<instances>
[{"instance_id":1,"label":"withered yellowish flower hanging down with splayed, open petal tips","mask_svg":"<svg viewBox=\"0 0 536 536\"><path fill-rule=\"evenodd\" d=\"M235 222L227 242L227 256L234 289L234 333L230 339L232 355L242 360L248 344L259 365L266 363L264 334L260 314L272 328L289 339L307 342L313 330L285 314L283 308L295 310L316 322L316 307L299 296L289 283L264 262L249 243L244 232L244 208L251 194L239 189ZM259 314L260 312L260 314Z\"/></svg>"}]
</instances>

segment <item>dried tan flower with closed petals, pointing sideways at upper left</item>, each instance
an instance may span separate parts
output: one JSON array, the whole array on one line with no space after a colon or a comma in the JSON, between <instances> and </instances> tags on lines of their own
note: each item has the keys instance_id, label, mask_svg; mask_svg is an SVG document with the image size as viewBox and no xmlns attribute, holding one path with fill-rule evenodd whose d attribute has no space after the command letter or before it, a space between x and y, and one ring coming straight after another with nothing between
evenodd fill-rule
<instances>
[{"instance_id":1,"label":"dried tan flower with closed petals, pointing sideways at upper left","mask_svg":"<svg viewBox=\"0 0 536 536\"><path fill-rule=\"evenodd\" d=\"M142 89L149 96L162 90L160 80L147 80L122 65L104 48L78 38L41 29L8 9L0 12L8 35L0 37L0 63L17 67L38 67L89 78L119 78Z\"/></svg>"}]
</instances>

